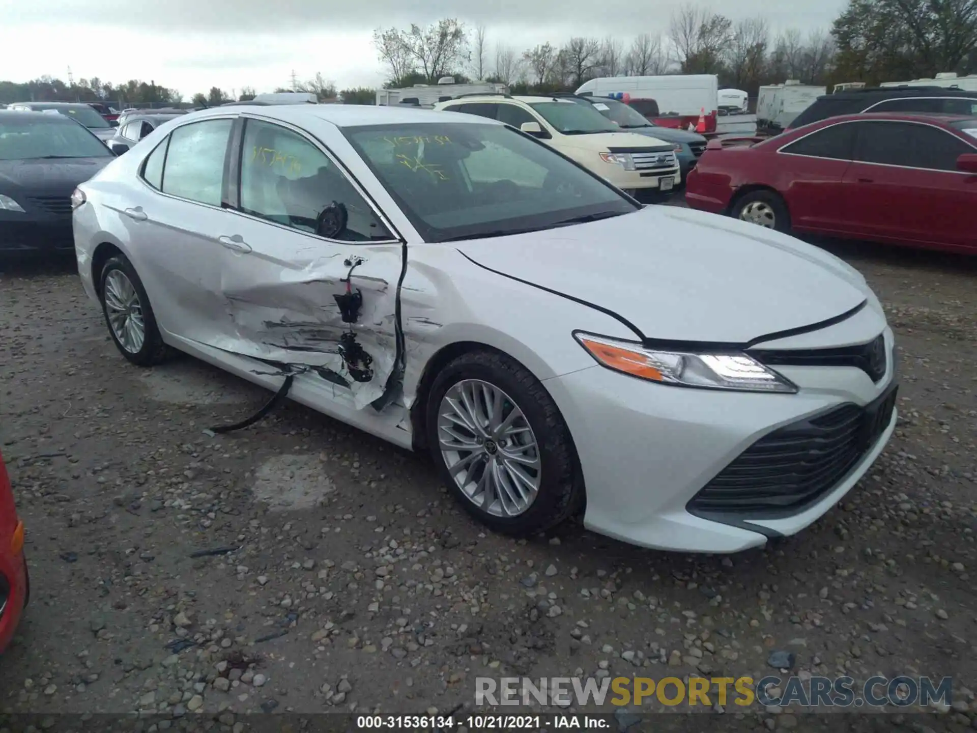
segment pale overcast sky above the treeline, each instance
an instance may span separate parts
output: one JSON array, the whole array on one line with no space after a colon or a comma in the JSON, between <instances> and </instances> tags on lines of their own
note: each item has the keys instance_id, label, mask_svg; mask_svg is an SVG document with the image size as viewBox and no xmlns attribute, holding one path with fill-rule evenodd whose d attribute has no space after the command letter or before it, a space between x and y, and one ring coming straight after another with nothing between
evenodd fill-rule
<instances>
[{"instance_id":1,"label":"pale overcast sky above the treeline","mask_svg":"<svg viewBox=\"0 0 977 733\"><path fill-rule=\"evenodd\" d=\"M0 78L42 74L137 78L185 98L219 86L272 91L317 71L339 88L385 78L371 43L375 27L458 18L488 27L488 68L498 42L517 51L573 35L666 32L681 0L0 0ZM844 0L726 0L703 7L734 20L763 15L776 31L828 28ZM423 11L410 10L410 6Z\"/></svg>"}]
</instances>

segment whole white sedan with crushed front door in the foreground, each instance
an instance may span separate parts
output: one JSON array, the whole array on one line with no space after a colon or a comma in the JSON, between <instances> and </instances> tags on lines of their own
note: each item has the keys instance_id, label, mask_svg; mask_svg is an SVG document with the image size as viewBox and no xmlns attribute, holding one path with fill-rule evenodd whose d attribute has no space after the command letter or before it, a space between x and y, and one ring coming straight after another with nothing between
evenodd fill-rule
<instances>
[{"instance_id":1,"label":"whole white sedan with crushed front door in the foreground","mask_svg":"<svg viewBox=\"0 0 977 733\"><path fill-rule=\"evenodd\" d=\"M136 365L177 349L408 449L489 527L733 552L791 535L893 431L865 279L643 207L478 116L309 105L160 126L73 196Z\"/></svg>"}]
</instances>

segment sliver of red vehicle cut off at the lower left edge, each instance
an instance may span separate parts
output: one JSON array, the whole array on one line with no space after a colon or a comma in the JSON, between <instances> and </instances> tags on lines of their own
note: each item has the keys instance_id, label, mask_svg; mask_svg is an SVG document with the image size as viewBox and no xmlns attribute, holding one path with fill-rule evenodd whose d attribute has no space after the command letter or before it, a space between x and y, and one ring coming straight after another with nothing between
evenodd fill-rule
<instances>
[{"instance_id":1,"label":"sliver of red vehicle cut off at the lower left edge","mask_svg":"<svg viewBox=\"0 0 977 733\"><path fill-rule=\"evenodd\" d=\"M17 518L10 477L0 455L0 652L14 636L29 595L23 558L23 522Z\"/></svg>"}]
</instances>

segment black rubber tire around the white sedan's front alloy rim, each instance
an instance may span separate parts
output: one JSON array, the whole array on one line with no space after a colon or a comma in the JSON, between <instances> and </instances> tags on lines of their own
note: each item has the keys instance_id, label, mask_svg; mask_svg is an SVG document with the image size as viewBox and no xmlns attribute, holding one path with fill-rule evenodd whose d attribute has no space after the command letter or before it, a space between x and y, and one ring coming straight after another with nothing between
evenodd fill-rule
<instances>
[{"instance_id":1,"label":"black rubber tire around the white sedan's front alloy rim","mask_svg":"<svg viewBox=\"0 0 977 733\"><path fill-rule=\"evenodd\" d=\"M526 417L540 459L539 488L524 513L496 516L466 496L448 471L439 448L439 408L448 389L466 379L479 379L504 392ZM528 369L492 351L464 354L435 377L427 401L427 439L431 455L449 491L476 519L490 529L513 536L532 535L561 523L583 505L579 461L567 423L553 398Z\"/></svg>"}]
</instances>

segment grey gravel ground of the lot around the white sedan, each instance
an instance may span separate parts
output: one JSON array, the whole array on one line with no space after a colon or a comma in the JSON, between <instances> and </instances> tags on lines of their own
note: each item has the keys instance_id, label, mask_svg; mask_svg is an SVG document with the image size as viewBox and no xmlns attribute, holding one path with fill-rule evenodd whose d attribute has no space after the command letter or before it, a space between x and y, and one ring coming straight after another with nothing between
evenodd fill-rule
<instances>
[{"instance_id":1,"label":"grey gravel ground of the lot around the white sedan","mask_svg":"<svg viewBox=\"0 0 977 733\"><path fill-rule=\"evenodd\" d=\"M71 263L8 266L0 445L33 595L0 711L230 730L256 711L456 711L477 675L758 678L780 651L802 675L953 675L953 709L905 724L977 727L977 264L825 245L886 305L899 425L813 527L730 557L573 523L488 534L425 458L294 404L208 437L269 395L186 357L131 367Z\"/></svg>"}]
</instances>

